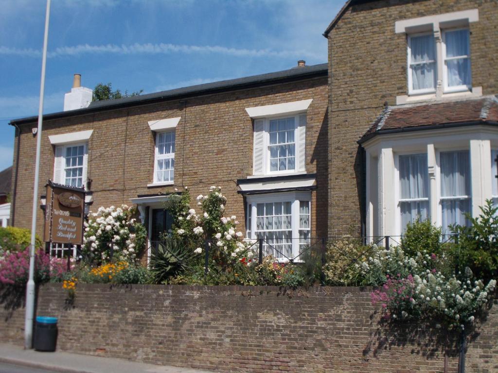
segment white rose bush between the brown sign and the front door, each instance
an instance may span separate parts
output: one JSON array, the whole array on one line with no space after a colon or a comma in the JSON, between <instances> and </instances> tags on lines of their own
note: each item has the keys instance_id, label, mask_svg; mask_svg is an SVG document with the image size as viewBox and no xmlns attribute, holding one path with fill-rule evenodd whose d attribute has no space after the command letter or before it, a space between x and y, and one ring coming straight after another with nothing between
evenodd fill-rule
<instances>
[{"instance_id":1,"label":"white rose bush between the brown sign and the front door","mask_svg":"<svg viewBox=\"0 0 498 373\"><path fill-rule=\"evenodd\" d=\"M84 223L82 254L89 263L106 263L111 259L133 262L146 241L144 226L133 218L134 209L127 205L99 207L90 212ZM113 258L111 258L111 251Z\"/></svg>"}]
</instances>

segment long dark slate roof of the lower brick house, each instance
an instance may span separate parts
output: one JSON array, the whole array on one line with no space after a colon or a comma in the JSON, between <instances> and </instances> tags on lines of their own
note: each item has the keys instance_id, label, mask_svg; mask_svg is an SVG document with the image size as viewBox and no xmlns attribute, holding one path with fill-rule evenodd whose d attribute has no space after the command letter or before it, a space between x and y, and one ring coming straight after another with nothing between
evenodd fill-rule
<instances>
[{"instance_id":1,"label":"long dark slate roof of the lower brick house","mask_svg":"<svg viewBox=\"0 0 498 373\"><path fill-rule=\"evenodd\" d=\"M250 77L230 79L213 83L200 84L196 86L176 88L174 90L140 94L136 96L117 98L112 100L93 101L90 106L83 109L60 111L43 115L43 119L56 119L74 115L84 115L97 111L111 110L122 107L130 107L149 104L170 99L182 99L200 94L221 93L234 90L242 90L265 85L281 84L304 79L312 79L328 75L328 64L303 66L297 69L288 69L274 73L253 75ZM62 99L62 98L61 98ZM31 116L11 120L9 124L25 124L38 120L38 116Z\"/></svg>"}]
</instances>

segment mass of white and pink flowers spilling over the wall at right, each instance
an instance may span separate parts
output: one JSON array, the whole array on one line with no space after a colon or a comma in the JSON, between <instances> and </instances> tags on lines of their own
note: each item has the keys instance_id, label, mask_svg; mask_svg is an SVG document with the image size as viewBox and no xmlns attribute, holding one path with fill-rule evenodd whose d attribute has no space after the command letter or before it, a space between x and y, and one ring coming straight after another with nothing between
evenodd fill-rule
<instances>
[{"instance_id":1,"label":"mass of white and pink flowers spilling over the wall at right","mask_svg":"<svg viewBox=\"0 0 498 373\"><path fill-rule=\"evenodd\" d=\"M371 295L373 303L381 303L386 318L422 317L463 330L493 299L497 281L485 283L476 279L469 267L455 274L458 258L454 256L454 244L426 246L438 247L436 253L421 249L427 235L415 232L422 231L427 229L415 226L408 232L406 241L410 245L406 249L403 244L387 249L375 246L364 265L357 267L359 276L372 278L372 274L383 274L380 288ZM431 241L435 241L434 237ZM420 251L414 252L414 243Z\"/></svg>"}]
</instances>

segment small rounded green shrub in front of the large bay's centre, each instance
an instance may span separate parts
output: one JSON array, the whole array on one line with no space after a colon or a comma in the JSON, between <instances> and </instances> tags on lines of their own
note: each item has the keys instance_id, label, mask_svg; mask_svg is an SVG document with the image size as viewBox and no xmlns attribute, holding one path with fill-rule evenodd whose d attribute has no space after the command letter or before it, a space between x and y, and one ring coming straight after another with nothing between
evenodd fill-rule
<instances>
[{"instance_id":1,"label":"small rounded green shrub in front of the large bay's centre","mask_svg":"<svg viewBox=\"0 0 498 373\"><path fill-rule=\"evenodd\" d=\"M424 250L431 254L439 255L442 252L441 228L432 225L430 220L417 218L406 226L406 231L401 238L403 252L415 257Z\"/></svg>"}]
</instances>

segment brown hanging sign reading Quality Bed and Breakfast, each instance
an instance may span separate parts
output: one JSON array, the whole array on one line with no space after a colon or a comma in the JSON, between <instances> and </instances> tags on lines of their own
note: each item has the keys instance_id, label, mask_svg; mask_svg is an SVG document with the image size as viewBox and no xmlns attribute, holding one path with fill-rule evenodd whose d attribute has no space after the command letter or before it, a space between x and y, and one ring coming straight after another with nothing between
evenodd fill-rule
<instances>
[{"instance_id":1,"label":"brown hanging sign reading Quality Bed and Breakfast","mask_svg":"<svg viewBox=\"0 0 498 373\"><path fill-rule=\"evenodd\" d=\"M83 244L85 190L47 184L44 241L58 244Z\"/></svg>"}]
</instances>

